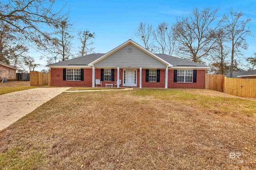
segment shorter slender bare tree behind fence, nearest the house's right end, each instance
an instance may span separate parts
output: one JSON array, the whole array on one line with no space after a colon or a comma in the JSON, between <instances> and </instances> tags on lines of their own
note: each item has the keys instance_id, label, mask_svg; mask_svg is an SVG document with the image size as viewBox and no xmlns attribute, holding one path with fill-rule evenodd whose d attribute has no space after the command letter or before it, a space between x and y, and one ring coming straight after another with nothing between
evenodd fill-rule
<instances>
[{"instance_id":1,"label":"shorter slender bare tree behind fence, nearest the house's right end","mask_svg":"<svg viewBox=\"0 0 256 170\"><path fill-rule=\"evenodd\" d=\"M216 30L214 34L216 43L214 45L214 50L212 51L211 55L212 58L214 59L214 63L212 63L212 65L216 68L214 71L217 74L224 74L229 69L228 63L226 62L226 58L229 53L228 48L226 46L226 34L227 33L223 28Z\"/></svg>"}]
</instances>

